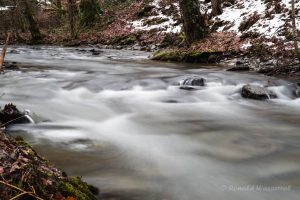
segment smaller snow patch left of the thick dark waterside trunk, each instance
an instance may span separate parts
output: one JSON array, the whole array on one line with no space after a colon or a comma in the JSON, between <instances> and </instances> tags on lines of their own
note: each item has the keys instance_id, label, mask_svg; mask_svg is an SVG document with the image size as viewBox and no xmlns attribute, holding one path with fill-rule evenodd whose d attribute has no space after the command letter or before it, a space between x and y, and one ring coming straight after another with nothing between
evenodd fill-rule
<instances>
[{"instance_id":1,"label":"smaller snow patch left of the thick dark waterside trunk","mask_svg":"<svg viewBox=\"0 0 300 200\"><path fill-rule=\"evenodd\" d=\"M177 21L174 20L172 16L164 15L161 11L162 7L160 6L162 0L154 0L152 3L150 3L150 6L154 6L155 11L158 13L155 16L150 16L147 18L143 18L140 20L135 20L128 22L128 26L132 27L133 30L142 30L142 31L150 31L154 29L160 30L162 33L180 33L181 32L181 25L177 25ZM173 3L173 5L179 10L178 3ZM171 5L165 7L165 9L170 9ZM155 19L163 19L163 22L157 23L154 25L148 25L146 24L149 20L155 20Z\"/></svg>"}]
</instances>

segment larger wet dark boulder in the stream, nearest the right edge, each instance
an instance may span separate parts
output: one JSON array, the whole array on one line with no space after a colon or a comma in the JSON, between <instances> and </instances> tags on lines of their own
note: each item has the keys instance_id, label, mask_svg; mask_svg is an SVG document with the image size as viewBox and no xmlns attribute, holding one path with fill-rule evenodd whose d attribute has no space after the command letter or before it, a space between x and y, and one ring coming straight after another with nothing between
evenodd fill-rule
<instances>
[{"instance_id":1,"label":"larger wet dark boulder in the stream, nearest the right edge","mask_svg":"<svg viewBox=\"0 0 300 200\"><path fill-rule=\"evenodd\" d=\"M265 87L258 85L245 85L242 88L242 97L248 99L265 100L277 98L277 95Z\"/></svg>"}]
</instances>

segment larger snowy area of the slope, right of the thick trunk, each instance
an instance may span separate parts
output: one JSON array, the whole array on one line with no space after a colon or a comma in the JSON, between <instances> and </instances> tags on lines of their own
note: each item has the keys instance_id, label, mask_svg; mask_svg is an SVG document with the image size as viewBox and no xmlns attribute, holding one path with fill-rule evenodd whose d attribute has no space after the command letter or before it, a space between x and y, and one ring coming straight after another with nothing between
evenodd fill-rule
<instances>
[{"instance_id":1,"label":"larger snowy area of the slope, right of the thick trunk","mask_svg":"<svg viewBox=\"0 0 300 200\"><path fill-rule=\"evenodd\" d=\"M296 3L296 8L300 8L299 1ZM224 8L223 13L214 20L222 21L224 24L217 31L233 31L238 35L244 32L255 32L267 38L280 37L289 28L290 10L290 0L237 0L234 5ZM244 30L242 26L247 21L253 25ZM299 21L297 26L300 27Z\"/></svg>"}]
</instances>

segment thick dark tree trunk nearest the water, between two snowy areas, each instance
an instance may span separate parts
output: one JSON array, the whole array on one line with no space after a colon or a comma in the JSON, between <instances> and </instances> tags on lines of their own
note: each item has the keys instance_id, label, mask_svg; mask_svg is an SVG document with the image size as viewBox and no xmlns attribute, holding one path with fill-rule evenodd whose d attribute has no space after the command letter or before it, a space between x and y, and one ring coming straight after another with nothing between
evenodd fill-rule
<instances>
[{"instance_id":1,"label":"thick dark tree trunk nearest the water, between two snowy areas","mask_svg":"<svg viewBox=\"0 0 300 200\"><path fill-rule=\"evenodd\" d=\"M191 45L207 35L205 18L200 13L198 0L179 0L179 6L186 43Z\"/></svg>"}]
</instances>

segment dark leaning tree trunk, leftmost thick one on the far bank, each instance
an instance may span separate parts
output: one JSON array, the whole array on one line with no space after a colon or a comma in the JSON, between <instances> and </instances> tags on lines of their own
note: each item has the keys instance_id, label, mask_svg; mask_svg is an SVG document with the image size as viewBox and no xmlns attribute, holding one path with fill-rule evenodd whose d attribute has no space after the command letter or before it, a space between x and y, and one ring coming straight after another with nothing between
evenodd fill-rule
<instances>
[{"instance_id":1,"label":"dark leaning tree trunk, leftmost thick one on the far bank","mask_svg":"<svg viewBox=\"0 0 300 200\"><path fill-rule=\"evenodd\" d=\"M38 27L38 24L33 16L33 11L28 0L18 0L19 5L21 6L22 14L28 22L29 31L31 33L31 39L33 41L39 41L42 39L42 34Z\"/></svg>"}]
</instances>

